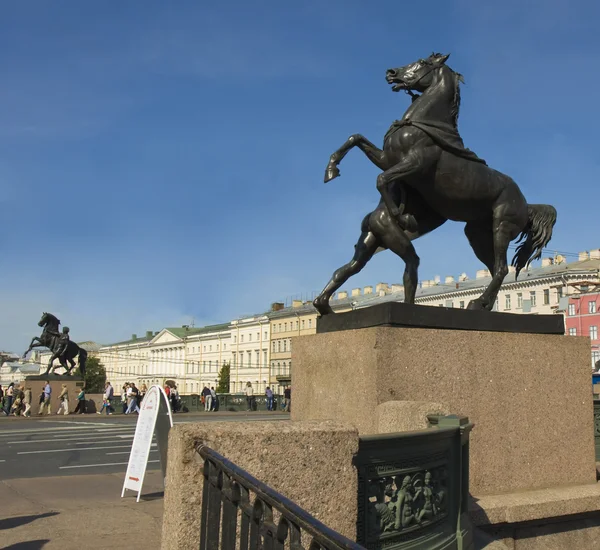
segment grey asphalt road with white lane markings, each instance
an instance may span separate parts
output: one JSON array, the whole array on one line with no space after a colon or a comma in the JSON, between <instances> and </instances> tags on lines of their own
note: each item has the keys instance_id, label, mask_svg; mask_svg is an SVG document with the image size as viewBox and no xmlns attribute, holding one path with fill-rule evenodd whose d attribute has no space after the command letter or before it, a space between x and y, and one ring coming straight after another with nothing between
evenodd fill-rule
<instances>
[{"instance_id":1,"label":"grey asphalt road with white lane markings","mask_svg":"<svg viewBox=\"0 0 600 550\"><path fill-rule=\"evenodd\" d=\"M175 415L174 423L288 420L287 414ZM0 418L0 478L113 474L127 469L137 416ZM156 441L148 469L159 467Z\"/></svg>"}]
</instances>

